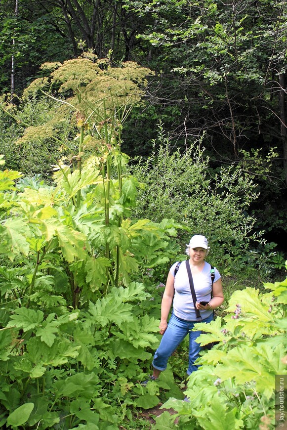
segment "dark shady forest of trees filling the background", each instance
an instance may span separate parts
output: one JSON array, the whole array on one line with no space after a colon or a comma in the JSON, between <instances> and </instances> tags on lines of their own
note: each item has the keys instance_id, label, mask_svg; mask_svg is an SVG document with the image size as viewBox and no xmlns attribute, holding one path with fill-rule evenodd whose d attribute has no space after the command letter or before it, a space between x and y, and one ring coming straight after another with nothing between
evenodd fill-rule
<instances>
[{"instance_id":1,"label":"dark shady forest of trees filling the background","mask_svg":"<svg viewBox=\"0 0 287 430\"><path fill-rule=\"evenodd\" d=\"M222 166L240 166L259 194L248 214L256 217L254 230L264 230L269 250L284 258L285 1L1 0L0 5L5 107L23 109L23 90L46 76L43 63L63 63L84 53L107 58L113 67L132 61L151 69L144 100L124 124L123 151L148 157L161 124L174 149L184 151L199 140L211 176ZM35 106L37 122L45 112ZM33 161L39 154L15 146L23 127L0 115L6 166L45 175L44 155Z\"/></svg>"}]
</instances>

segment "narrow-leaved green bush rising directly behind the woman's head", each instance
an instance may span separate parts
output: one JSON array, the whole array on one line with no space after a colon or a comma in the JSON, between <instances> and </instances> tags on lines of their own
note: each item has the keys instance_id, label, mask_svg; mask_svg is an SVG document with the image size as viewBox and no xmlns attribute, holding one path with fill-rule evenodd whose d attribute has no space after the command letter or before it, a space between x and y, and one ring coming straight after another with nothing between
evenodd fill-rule
<instances>
[{"instance_id":1,"label":"narrow-leaved green bush rising directly behind the woman's head","mask_svg":"<svg viewBox=\"0 0 287 430\"><path fill-rule=\"evenodd\" d=\"M204 234L211 247L208 258L223 274L232 274L235 267L253 269L257 256L250 253L250 243L260 241L261 233L254 232L255 219L247 215L257 197L252 179L238 166L222 168L211 177L201 142L184 152L175 150L161 125L159 142L150 157L133 160L131 172L145 185L133 214L157 222L163 217L180 222L185 226L179 236L182 249L190 234Z\"/></svg>"}]
</instances>

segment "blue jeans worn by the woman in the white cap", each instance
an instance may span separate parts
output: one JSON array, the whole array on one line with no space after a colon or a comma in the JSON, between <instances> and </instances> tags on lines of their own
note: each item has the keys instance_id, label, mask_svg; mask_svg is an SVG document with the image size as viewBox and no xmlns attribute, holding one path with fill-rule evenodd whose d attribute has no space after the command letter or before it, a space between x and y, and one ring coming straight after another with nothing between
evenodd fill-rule
<instances>
[{"instance_id":1,"label":"blue jeans worn by the woman in the white cap","mask_svg":"<svg viewBox=\"0 0 287 430\"><path fill-rule=\"evenodd\" d=\"M201 322L209 323L213 320L213 313ZM190 375L195 372L199 366L195 365L195 360L199 357L199 353L202 350L200 344L195 340L202 334L201 330L191 331L197 324L197 321L186 321L178 318L172 312L170 320L168 322L167 329L164 332L161 344L155 352L153 359L153 367L157 370L165 370L167 360L175 351L177 346L184 340L186 335L189 333L189 357L188 357L188 369L187 374Z\"/></svg>"}]
</instances>

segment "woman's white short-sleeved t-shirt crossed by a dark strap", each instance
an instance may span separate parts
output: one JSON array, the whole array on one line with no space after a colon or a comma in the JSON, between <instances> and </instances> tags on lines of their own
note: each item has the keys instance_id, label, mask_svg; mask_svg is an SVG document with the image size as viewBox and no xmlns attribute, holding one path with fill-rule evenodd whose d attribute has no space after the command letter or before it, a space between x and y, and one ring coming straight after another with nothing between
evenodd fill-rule
<instances>
[{"instance_id":1,"label":"woman's white short-sleeved t-shirt crossed by a dark strap","mask_svg":"<svg viewBox=\"0 0 287 430\"><path fill-rule=\"evenodd\" d=\"M176 264L177 263L174 263L170 267L170 272L173 274L173 276ZM184 319L186 321L196 321L196 313L185 264L185 261L181 262L174 278L173 313L178 318ZM203 270L196 275L192 275L197 301L210 301L212 287L210 269L210 264L205 261ZM216 282L221 277L216 267L214 267L214 274L214 282ZM212 309L200 310L202 319L207 318L212 314L212 312Z\"/></svg>"}]
</instances>

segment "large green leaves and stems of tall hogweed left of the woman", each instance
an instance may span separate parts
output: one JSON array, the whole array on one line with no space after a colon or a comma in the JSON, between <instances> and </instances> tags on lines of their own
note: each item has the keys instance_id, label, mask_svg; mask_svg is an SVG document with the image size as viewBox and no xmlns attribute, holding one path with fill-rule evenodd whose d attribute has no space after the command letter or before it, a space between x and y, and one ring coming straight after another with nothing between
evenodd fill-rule
<instances>
[{"instance_id":1,"label":"large green leaves and stems of tall hogweed left of the woman","mask_svg":"<svg viewBox=\"0 0 287 430\"><path fill-rule=\"evenodd\" d=\"M180 226L129 218L140 184L122 174L128 109L106 103L77 111L78 153L54 185L17 192L21 173L0 172L1 426L112 430L158 402L138 384L158 344L145 280Z\"/></svg>"}]
</instances>

